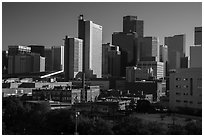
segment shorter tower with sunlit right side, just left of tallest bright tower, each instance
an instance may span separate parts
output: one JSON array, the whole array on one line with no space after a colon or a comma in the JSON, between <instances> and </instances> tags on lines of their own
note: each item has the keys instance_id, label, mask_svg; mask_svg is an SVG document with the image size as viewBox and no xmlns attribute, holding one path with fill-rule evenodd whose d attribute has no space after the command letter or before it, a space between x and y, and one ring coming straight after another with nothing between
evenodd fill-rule
<instances>
[{"instance_id":1,"label":"shorter tower with sunlit right side, just left of tallest bright tower","mask_svg":"<svg viewBox=\"0 0 204 137\"><path fill-rule=\"evenodd\" d=\"M83 40L78 38L64 39L64 73L65 81L74 79L82 72L82 47Z\"/></svg>"}]
</instances>

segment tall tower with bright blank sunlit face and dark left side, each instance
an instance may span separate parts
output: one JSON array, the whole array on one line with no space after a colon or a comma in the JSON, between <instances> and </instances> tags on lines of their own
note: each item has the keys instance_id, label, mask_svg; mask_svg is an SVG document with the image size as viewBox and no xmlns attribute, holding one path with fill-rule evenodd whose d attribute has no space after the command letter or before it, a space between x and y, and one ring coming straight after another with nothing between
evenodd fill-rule
<instances>
[{"instance_id":1,"label":"tall tower with bright blank sunlit face and dark left side","mask_svg":"<svg viewBox=\"0 0 204 137\"><path fill-rule=\"evenodd\" d=\"M83 40L83 72L90 78L102 74L102 26L86 21L83 15L78 20L78 38ZM90 72L93 71L93 75Z\"/></svg>"}]
</instances>

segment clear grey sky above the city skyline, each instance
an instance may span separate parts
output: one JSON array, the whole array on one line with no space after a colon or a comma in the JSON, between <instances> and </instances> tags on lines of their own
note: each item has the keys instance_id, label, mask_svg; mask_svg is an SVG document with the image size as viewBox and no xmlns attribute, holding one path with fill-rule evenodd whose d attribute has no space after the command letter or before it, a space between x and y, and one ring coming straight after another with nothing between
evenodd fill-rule
<instances>
[{"instance_id":1,"label":"clear grey sky above the city skyline","mask_svg":"<svg viewBox=\"0 0 204 137\"><path fill-rule=\"evenodd\" d=\"M194 43L194 27L202 26L201 2L3 2L2 50L8 45L63 45L65 35L78 36L78 16L103 26L103 43L121 32L123 16L144 21L144 36L186 34L187 55Z\"/></svg>"}]
</instances>

